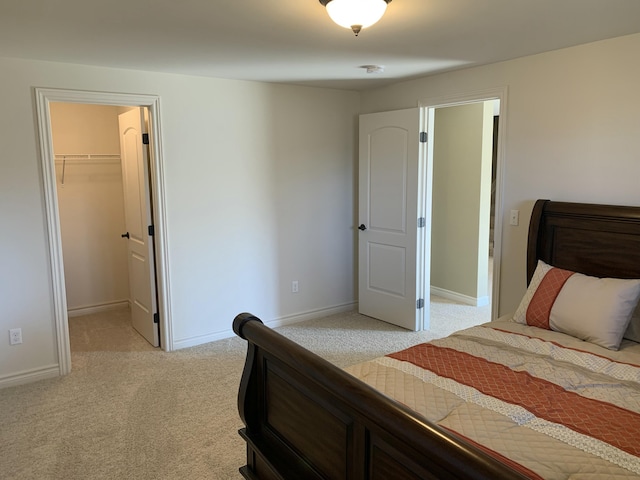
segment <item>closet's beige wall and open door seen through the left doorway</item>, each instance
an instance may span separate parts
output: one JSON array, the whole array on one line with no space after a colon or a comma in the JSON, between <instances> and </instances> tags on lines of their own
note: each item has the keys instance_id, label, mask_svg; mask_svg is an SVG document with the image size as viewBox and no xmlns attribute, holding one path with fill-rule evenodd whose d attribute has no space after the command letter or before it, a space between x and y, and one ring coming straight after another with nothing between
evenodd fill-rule
<instances>
[{"instance_id":1,"label":"closet's beige wall and open door seen through the left doorway","mask_svg":"<svg viewBox=\"0 0 640 480\"><path fill-rule=\"evenodd\" d=\"M69 316L128 307L133 328L158 347L146 109L50 110Z\"/></svg>"}]
</instances>

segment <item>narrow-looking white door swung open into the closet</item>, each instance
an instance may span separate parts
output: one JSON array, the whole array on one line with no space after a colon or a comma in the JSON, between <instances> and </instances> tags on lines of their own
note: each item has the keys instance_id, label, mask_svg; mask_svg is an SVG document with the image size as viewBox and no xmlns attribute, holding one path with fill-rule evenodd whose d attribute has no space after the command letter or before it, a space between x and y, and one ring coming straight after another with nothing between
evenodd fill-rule
<instances>
[{"instance_id":1,"label":"narrow-looking white door swung open into the closet","mask_svg":"<svg viewBox=\"0 0 640 480\"><path fill-rule=\"evenodd\" d=\"M155 288L155 260L151 195L149 191L149 163L147 145L142 134L142 108L134 108L118 116L120 124L120 152L124 180L125 221L128 233L129 288L133 327L154 347L160 345Z\"/></svg>"}]
</instances>

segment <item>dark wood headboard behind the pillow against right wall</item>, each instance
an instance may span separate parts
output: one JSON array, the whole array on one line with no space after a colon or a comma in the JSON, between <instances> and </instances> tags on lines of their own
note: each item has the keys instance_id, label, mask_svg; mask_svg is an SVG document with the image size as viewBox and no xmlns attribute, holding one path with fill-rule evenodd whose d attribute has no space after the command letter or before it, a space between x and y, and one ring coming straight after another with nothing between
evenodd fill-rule
<instances>
[{"instance_id":1,"label":"dark wood headboard behind the pillow against right wall","mask_svg":"<svg viewBox=\"0 0 640 480\"><path fill-rule=\"evenodd\" d=\"M527 284L538 259L595 277L640 278L640 207L538 200L529 223Z\"/></svg>"}]
</instances>

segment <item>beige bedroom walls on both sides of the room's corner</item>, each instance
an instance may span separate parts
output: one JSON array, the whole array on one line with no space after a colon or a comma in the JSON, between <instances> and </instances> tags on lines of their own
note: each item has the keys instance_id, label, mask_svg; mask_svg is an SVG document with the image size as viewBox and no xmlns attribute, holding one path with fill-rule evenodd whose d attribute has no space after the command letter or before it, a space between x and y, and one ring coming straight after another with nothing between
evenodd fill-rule
<instances>
[{"instance_id":1,"label":"beige bedroom walls on both sides of the room's corner","mask_svg":"<svg viewBox=\"0 0 640 480\"><path fill-rule=\"evenodd\" d=\"M535 199L640 204L638 51L631 35L361 94L0 59L0 383L57 362L34 87L160 97L180 347L231 335L241 311L286 319L354 301L357 115L501 86L499 311L512 311ZM510 209L521 211L518 227ZM9 346L16 327L24 344Z\"/></svg>"}]
</instances>

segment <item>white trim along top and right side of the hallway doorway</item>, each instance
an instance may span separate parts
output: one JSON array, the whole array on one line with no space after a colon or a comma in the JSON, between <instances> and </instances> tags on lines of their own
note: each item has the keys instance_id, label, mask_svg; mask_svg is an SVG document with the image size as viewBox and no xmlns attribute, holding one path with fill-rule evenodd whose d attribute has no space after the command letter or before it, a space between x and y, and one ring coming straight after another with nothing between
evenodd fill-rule
<instances>
[{"instance_id":1,"label":"white trim along top and right side of the hallway doorway","mask_svg":"<svg viewBox=\"0 0 640 480\"><path fill-rule=\"evenodd\" d=\"M503 194L505 179L505 140L507 138L507 94L508 88L495 87L474 92L430 97L418 101L421 108L433 111L435 108L463 105L465 103L500 100L500 122L498 123L498 160L496 165L496 201L493 236L493 287L491 298L491 320L498 318L500 307L500 264L502 260L502 217L504 216ZM428 132L429 144L433 144L432 132Z\"/></svg>"}]
</instances>

